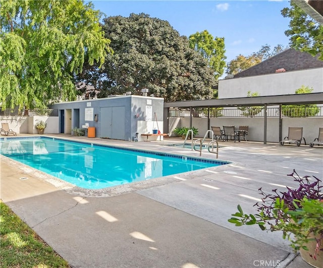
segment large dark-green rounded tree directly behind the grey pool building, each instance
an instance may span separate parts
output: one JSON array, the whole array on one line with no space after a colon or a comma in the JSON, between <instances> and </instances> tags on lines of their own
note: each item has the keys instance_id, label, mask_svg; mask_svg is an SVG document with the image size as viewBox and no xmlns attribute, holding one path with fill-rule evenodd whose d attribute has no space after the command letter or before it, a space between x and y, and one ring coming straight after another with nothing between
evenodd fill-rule
<instances>
[{"instance_id":1,"label":"large dark-green rounded tree directly behind the grey pool building","mask_svg":"<svg viewBox=\"0 0 323 268\"><path fill-rule=\"evenodd\" d=\"M104 19L105 36L114 54L104 63L106 96L131 91L164 97L166 101L210 98L213 71L207 61L189 48L188 38L167 22L147 14Z\"/></svg>"}]
</instances>

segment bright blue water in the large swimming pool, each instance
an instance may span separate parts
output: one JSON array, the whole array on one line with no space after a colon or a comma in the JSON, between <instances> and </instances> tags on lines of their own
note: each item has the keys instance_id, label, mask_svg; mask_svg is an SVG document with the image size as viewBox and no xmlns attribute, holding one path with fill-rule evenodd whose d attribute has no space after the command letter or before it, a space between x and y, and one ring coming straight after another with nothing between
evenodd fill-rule
<instances>
[{"instance_id":1,"label":"bright blue water in the large swimming pool","mask_svg":"<svg viewBox=\"0 0 323 268\"><path fill-rule=\"evenodd\" d=\"M227 164L45 137L1 139L0 153L86 189L101 189Z\"/></svg>"}]
</instances>

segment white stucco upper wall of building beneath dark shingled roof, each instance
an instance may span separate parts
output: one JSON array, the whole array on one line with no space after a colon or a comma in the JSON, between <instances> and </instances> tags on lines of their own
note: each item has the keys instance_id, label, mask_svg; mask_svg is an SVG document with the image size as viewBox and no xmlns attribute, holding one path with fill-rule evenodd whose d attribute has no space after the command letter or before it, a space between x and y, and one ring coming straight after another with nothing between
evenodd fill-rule
<instances>
[{"instance_id":1,"label":"white stucco upper wall of building beneath dark shingled roof","mask_svg":"<svg viewBox=\"0 0 323 268\"><path fill-rule=\"evenodd\" d=\"M259 96L295 94L301 86L323 92L323 68L225 79L219 81L219 99L246 97L248 91Z\"/></svg>"}]
</instances>

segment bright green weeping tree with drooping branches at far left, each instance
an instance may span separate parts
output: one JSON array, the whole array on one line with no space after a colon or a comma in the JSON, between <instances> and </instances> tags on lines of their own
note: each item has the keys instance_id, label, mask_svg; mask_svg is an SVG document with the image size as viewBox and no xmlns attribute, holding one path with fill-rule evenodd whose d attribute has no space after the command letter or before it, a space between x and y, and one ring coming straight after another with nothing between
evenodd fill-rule
<instances>
[{"instance_id":1,"label":"bright green weeping tree with drooping branches at far left","mask_svg":"<svg viewBox=\"0 0 323 268\"><path fill-rule=\"evenodd\" d=\"M100 66L110 52L101 13L81 0L0 0L0 5L1 106L73 100L73 75L84 59Z\"/></svg>"}]
</instances>

